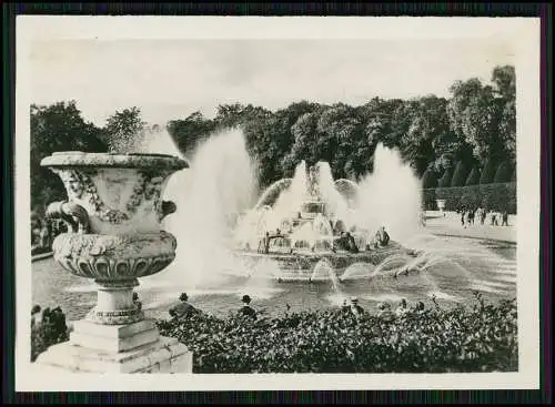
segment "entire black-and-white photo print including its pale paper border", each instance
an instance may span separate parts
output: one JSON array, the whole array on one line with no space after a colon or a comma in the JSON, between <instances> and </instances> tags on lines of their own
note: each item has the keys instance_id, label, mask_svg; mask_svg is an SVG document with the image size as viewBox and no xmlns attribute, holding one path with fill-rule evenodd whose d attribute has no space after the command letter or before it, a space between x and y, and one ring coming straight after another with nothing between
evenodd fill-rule
<instances>
[{"instance_id":1,"label":"entire black-and-white photo print including its pale paper border","mask_svg":"<svg viewBox=\"0 0 555 407\"><path fill-rule=\"evenodd\" d=\"M538 386L537 19L19 20L17 386Z\"/></svg>"}]
</instances>

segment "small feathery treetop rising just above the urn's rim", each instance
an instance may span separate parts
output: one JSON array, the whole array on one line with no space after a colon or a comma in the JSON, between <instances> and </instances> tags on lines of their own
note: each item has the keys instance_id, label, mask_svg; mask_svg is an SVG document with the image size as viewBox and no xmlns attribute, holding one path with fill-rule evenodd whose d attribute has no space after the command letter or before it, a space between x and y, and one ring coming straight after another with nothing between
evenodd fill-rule
<instances>
[{"instance_id":1,"label":"small feathery treetop rising just above the urn's rim","mask_svg":"<svg viewBox=\"0 0 555 407\"><path fill-rule=\"evenodd\" d=\"M141 120L139 108L115 112L107 120L104 134L112 152L133 152L143 139L147 123Z\"/></svg>"}]
</instances>

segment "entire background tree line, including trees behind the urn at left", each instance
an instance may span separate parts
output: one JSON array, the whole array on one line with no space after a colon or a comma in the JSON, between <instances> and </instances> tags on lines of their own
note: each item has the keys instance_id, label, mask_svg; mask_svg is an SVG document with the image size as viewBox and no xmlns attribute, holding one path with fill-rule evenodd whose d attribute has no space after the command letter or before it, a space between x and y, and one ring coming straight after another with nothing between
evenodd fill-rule
<instances>
[{"instance_id":1,"label":"entire background tree line, including trees behind the urn at left","mask_svg":"<svg viewBox=\"0 0 555 407\"><path fill-rule=\"evenodd\" d=\"M334 177L359 180L373 170L379 143L397 147L424 187L465 186L515 181L515 71L496 67L491 83L456 81L448 99L373 98L344 103L292 103L270 111L252 104L223 104L213 119L194 112L167 123L180 150L191 155L214 131L242 128L249 152L260 164L259 182L269 185L291 176L305 160L330 162ZM31 196L43 206L63 186L40 160L54 151L121 151L148 129L138 108L110 116L105 125L88 123L75 102L31 106Z\"/></svg>"}]
</instances>

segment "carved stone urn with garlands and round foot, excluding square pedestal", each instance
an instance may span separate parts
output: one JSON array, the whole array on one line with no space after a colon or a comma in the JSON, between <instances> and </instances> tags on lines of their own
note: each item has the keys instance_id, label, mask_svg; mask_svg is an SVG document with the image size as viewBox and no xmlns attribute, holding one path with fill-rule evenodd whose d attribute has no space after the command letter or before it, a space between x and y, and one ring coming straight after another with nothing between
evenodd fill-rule
<instances>
[{"instance_id":1,"label":"carved stone urn with garlands and round foot, excluding square pedestal","mask_svg":"<svg viewBox=\"0 0 555 407\"><path fill-rule=\"evenodd\" d=\"M175 257L176 241L161 221L175 211L162 193L184 160L160 154L60 152L41 162L63 182L67 201L49 205L70 232L56 237L56 261L68 272L93 278L97 306L87 319L118 325L144 316L132 299L138 277L159 273Z\"/></svg>"}]
</instances>

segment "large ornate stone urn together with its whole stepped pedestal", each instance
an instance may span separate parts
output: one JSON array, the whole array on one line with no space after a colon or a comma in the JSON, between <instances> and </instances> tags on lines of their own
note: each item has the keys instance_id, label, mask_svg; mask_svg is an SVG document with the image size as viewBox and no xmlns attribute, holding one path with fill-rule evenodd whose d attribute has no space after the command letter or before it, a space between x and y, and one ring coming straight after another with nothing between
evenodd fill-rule
<instances>
[{"instance_id":1,"label":"large ornate stone urn together with its whole stepped pedestal","mask_svg":"<svg viewBox=\"0 0 555 407\"><path fill-rule=\"evenodd\" d=\"M133 302L138 278L165 268L176 241L161 221L175 211L161 199L169 176L185 161L157 154L62 152L41 162L64 183L68 200L47 216L70 227L59 235L54 260L73 275L92 278L98 301L73 324L67 343L51 346L37 364L83 373L192 373L192 354L162 337Z\"/></svg>"}]
</instances>

